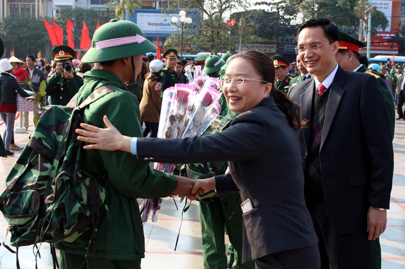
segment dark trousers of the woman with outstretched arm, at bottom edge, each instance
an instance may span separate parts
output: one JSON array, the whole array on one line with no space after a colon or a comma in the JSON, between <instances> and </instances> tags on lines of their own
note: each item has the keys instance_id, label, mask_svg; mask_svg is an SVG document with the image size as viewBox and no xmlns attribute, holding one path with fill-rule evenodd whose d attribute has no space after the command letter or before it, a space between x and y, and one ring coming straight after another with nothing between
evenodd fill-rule
<instances>
[{"instance_id":1,"label":"dark trousers of the woman with outstretched arm, at bottom edge","mask_svg":"<svg viewBox=\"0 0 405 269\"><path fill-rule=\"evenodd\" d=\"M318 246L285 250L256 259L258 269L319 269Z\"/></svg>"}]
</instances>

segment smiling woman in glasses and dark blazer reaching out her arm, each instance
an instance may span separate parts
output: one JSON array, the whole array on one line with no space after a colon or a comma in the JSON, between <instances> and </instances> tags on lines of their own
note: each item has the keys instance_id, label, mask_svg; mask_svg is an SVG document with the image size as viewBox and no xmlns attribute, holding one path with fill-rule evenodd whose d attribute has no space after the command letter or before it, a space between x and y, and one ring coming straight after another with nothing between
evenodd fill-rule
<instances>
[{"instance_id":1,"label":"smiling woman in glasses and dark blazer reaching out her arm","mask_svg":"<svg viewBox=\"0 0 405 269\"><path fill-rule=\"evenodd\" d=\"M76 132L84 135L79 140L96 143L86 149L125 150L153 162L228 160L232 175L199 180L194 192L240 192L242 261L254 259L260 269L319 268L317 238L304 201L299 108L285 93L272 90L273 82L270 58L259 51L240 52L229 60L223 85L229 109L239 115L220 133L185 139L131 138L121 136L105 116L107 129L82 124L89 131Z\"/></svg>"}]
</instances>

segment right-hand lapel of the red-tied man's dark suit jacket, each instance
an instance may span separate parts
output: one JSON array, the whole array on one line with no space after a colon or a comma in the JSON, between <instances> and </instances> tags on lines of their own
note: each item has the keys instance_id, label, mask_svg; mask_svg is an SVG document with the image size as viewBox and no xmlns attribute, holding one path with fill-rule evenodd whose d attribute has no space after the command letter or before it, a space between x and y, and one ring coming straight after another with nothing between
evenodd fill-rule
<instances>
[{"instance_id":1,"label":"right-hand lapel of the red-tied man's dark suit jacket","mask_svg":"<svg viewBox=\"0 0 405 269\"><path fill-rule=\"evenodd\" d=\"M331 130L332 123L336 115L336 111L338 110L340 101L342 100L342 97L346 91L344 88L342 88L344 84L346 84L344 71L341 67L338 67L338 71L336 72L335 78L333 79L330 88L319 151L322 150L323 144L325 144L325 141L328 138L329 131Z\"/></svg>"}]
</instances>

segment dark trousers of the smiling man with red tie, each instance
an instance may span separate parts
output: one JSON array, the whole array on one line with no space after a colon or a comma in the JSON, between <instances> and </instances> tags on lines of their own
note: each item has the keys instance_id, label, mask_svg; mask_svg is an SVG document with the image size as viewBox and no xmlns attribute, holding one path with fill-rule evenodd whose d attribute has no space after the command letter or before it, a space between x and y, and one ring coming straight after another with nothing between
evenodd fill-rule
<instances>
[{"instance_id":1,"label":"dark trousers of the smiling man with red tie","mask_svg":"<svg viewBox=\"0 0 405 269\"><path fill-rule=\"evenodd\" d=\"M339 234L333 228L323 202L307 203L316 235L322 269L370 269L371 241L364 232ZM329 264L328 264L329 263Z\"/></svg>"}]
</instances>

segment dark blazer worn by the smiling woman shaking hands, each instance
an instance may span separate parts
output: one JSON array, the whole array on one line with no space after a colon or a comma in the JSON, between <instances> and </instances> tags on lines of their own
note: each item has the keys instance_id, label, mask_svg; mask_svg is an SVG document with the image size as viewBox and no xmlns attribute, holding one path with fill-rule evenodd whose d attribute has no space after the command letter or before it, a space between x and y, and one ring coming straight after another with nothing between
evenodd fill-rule
<instances>
[{"instance_id":1,"label":"dark blazer worn by the smiling woman shaking hands","mask_svg":"<svg viewBox=\"0 0 405 269\"><path fill-rule=\"evenodd\" d=\"M317 242L305 207L297 132L272 97L238 115L220 133L185 139L138 138L137 154L163 163L230 161L234 183L218 184L217 192L238 189L242 201L249 198L254 207L244 213L244 262Z\"/></svg>"}]
</instances>

